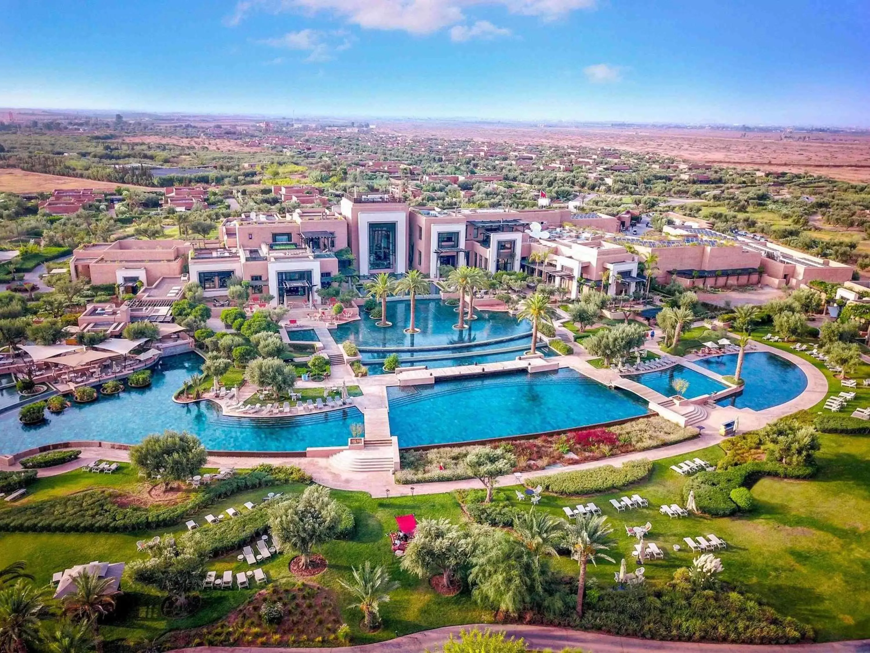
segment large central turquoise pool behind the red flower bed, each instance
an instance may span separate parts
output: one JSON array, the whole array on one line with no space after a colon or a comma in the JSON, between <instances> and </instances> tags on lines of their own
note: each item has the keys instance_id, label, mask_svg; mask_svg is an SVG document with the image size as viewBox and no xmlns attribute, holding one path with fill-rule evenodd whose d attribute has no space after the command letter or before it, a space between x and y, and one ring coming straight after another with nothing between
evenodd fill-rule
<instances>
[{"instance_id":1,"label":"large central turquoise pool behind the red flower bed","mask_svg":"<svg viewBox=\"0 0 870 653\"><path fill-rule=\"evenodd\" d=\"M399 447L484 440L584 427L646 414L634 394L572 369L388 387Z\"/></svg>"}]
</instances>

